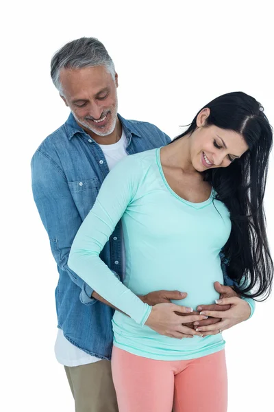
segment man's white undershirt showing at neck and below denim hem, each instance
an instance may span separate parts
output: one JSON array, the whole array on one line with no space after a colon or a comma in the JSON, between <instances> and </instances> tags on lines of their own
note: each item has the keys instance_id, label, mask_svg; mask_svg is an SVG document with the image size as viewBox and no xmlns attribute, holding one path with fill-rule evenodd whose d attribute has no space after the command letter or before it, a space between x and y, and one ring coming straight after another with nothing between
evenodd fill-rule
<instances>
[{"instance_id":1,"label":"man's white undershirt showing at neck and below denim hem","mask_svg":"<svg viewBox=\"0 0 274 412\"><path fill-rule=\"evenodd\" d=\"M99 144L105 160L108 163L108 168L112 170L114 165L118 163L123 157L127 156L125 148L127 146L127 138L123 131L121 139L114 144ZM125 274L125 244L123 241L123 233L121 233L121 244L122 244L122 262L123 262L123 275ZM65 366L79 366L86 365L87 363L94 363L100 361L99 358L91 356L84 352L84 350L79 349L79 347L73 345L69 342L63 334L62 329L58 329L57 338L55 341L55 356L59 363Z\"/></svg>"}]
</instances>

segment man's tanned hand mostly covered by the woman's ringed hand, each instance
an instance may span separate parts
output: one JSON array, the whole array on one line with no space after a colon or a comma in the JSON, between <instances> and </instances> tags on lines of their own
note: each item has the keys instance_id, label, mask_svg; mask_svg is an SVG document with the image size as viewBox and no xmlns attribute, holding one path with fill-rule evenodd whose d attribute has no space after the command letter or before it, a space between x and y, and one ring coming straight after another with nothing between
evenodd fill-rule
<instances>
[{"instance_id":1,"label":"man's tanned hand mostly covered by the woman's ringed hand","mask_svg":"<svg viewBox=\"0 0 274 412\"><path fill-rule=\"evenodd\" d=\"M226 299L228 297L239 297L238 294L235 292L234 289L232 289L230 286L224 286L222 284L220 284L219 282L215 282L214 283L214 288L216 290L216 292L218 292L220 294L220 299ZM229 310L231 307L231 305L217 305L217 304L213 304L213 305L199 305L197 307L198 312L201 312L201 310L213 310L213 311L219 311L219 312L223 312L225 310ZM209 317L208 319L204 320L204 321L196 321L194 323L195 327L197 328L197 326L207 326L207 325L214 325L214 323L219 323L221 321L221 317Z\"/></svg>"}]
</instances>

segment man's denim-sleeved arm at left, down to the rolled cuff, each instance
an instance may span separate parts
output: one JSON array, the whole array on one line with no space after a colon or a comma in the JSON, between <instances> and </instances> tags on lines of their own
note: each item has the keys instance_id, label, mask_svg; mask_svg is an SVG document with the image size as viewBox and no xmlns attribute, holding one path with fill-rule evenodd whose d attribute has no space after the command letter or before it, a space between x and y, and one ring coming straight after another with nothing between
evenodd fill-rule
<instances>
[{"instance_id":1,"label":"man's denim-sleeved arm at left, down to the rolled cuff","mask_svg":"<svg viewBox=\"0 0 274 412\"><path fill-rule=\"evenodd\" d=\"M71 196L66 176L46 153L37 151L32 158L32 191L42 223L47 230L55 262L79 286L83 304L94 304L93 289L68 266L71 244L82 224Z\"/></svg>"}]
</instances>

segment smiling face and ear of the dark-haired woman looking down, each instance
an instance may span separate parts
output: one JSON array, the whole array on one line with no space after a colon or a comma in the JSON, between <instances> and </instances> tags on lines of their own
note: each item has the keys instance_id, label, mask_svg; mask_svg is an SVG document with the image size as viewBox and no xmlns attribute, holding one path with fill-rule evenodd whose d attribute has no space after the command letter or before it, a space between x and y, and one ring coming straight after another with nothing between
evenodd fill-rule
<instances>
[{"instance_id":1,"label":"smiling face and ear of the dark-haired woman looking down","mask_svg":"<svg viewBox=\"0 0 274 412\"><path fill-rule=\"evenodd\" d=\"M198 172L209 168L227 168L248 150L245 139L239 133L213 125L203 127L209 114L209 108L199 113L197 129L190 135L191 161Z\"/></svg>"}]
</instances>

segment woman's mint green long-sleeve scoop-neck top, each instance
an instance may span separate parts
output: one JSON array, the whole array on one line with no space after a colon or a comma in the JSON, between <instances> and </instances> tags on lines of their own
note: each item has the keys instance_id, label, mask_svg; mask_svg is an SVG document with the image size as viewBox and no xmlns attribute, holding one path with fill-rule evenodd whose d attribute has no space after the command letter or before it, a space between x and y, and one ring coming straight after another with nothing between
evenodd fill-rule
<instances>
[{"instance_id":1,"label":"woman's mint green long-sleeve scoop-neck top","mask_svg":"<svg viewBox=\"0 0 274 412\"><path fill-rule=\"evenodd\" d=\"M122 220L126 271L123 283L99 258ZM167 183L160 149L120 161L101 186L94 207L79 228L69 267L99 295L116 306L114 345L139 356L176 361L222 350L222 334L175 339L151 330L145 322L151 306L137 295L181 290L174 304L196 308L219 299L214 282L223 283L219 253L231 231L229 211L214 199L191 203ZM251 312L253 300L249 299Z\"/></svg>"}]
</instances>

